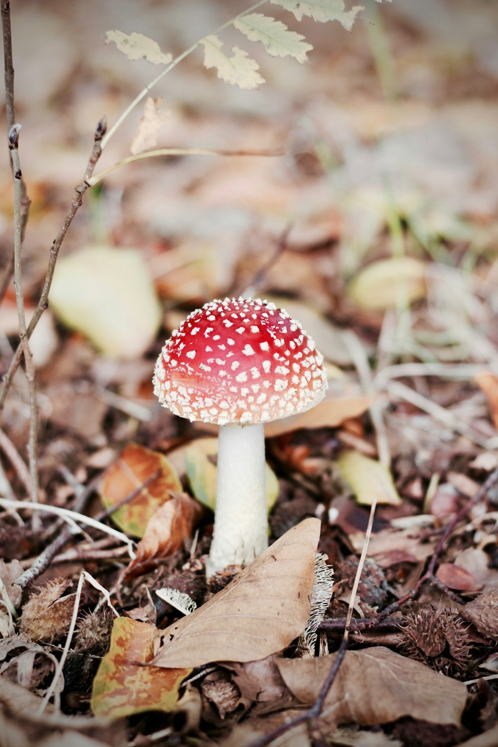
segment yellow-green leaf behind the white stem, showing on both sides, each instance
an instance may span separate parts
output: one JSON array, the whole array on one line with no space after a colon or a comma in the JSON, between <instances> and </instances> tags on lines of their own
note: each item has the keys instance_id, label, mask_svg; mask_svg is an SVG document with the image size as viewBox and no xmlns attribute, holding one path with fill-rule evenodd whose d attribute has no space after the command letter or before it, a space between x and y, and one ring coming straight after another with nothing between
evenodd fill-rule
<instances>
[{"instance_id":1,"label":"yellow-green leaf behind the white stem, showing on both sides","mask_svg":"<svg viewBox=\"0 0 498 747\"><path fill-rule=\"evenodd\" d=\"M216 505L218 455L217 438L198 438L185 449L185 467L193 495L212 511ZM278 497L278 480L275 472L266 465L267 509L273 508Z\"/></svg>"}]
</instances>

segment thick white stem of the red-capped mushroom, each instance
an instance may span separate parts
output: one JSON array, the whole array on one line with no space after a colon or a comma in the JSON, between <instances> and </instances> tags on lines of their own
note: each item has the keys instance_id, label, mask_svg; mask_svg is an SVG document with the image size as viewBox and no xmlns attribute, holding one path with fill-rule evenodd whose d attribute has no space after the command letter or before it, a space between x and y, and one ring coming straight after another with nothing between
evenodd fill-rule
<instances>
[{"instance_id":1,"label":"thick white stem of the red-capped mushroom","mask_svg":"<svg viewBox=\"0 0 498 747\"><path fill-rule=\"evenodd\" d=\"M264 426L221 426L208 577L227 565L252 562L268 546L267 526Z\"/></svg>"}]
</instances>

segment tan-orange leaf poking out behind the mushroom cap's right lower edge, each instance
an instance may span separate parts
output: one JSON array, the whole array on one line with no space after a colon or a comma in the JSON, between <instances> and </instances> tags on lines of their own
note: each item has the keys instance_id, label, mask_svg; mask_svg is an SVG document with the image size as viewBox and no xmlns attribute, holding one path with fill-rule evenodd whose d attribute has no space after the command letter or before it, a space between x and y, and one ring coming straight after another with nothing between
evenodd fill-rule
<instances>
[{"instance_id":1,"label":"tan-orange leaf poking out behind the mushroom cap's right lower edge","mask_svg":"<svg viewBox=\"0 0 498 747\"><path fill-rule=\"evenodd\" d=\"M339 397L325 399L302 415L267 423L264 433L267 437L281 436L299 428L337 428L350 418L359 418L376 400L375 396L361 394L358 397Z\"/></svg>"}]
</instances>

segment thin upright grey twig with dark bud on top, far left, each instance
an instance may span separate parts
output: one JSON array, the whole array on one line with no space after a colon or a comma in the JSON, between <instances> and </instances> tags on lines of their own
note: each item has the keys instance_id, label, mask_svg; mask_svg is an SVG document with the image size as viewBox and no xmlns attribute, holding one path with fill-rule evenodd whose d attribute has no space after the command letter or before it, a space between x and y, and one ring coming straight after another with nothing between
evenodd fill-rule
<instances>
[{"instance_id":1,"label":"thin upright grey twig with dark bud on top, far left","mask_svg":"<svg viewBox=\"0 0 498 747\"><path fill-rule=\"evenodd\" d=\"M37 381L34 371L33 356L28 341L26 329L26 317L24 310L24 294L22 292L22 235L21 235L21 164L19 161L19 130L21 125L13 125L9 130L8 142L10 158L13 164L14 182L14 285L16 287L16 305L19 318L19 340L22 354L25 360L26 378L28 379L29 391L29 473L31 477L30 495L33 503L38 502L38 403L37 403ZM33 515L33 529L40 529L40 516Z\"/></svg>"}]
</instances>

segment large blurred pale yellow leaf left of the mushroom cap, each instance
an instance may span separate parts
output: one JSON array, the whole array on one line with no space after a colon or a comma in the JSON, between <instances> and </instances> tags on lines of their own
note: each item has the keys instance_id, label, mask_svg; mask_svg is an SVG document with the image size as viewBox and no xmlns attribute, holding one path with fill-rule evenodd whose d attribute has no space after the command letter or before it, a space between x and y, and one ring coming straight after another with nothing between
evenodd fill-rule
<instances>
[{"instance_id":1,"label":"large blurred pale yellow leaf left of the mushroom cap","mask_svg":"<svg viewBox=\"0 0 498 747\"><path fill-rule=\"evenodd\" d=\"M161 306L143 255L87 247L57 262L50 306L111 358L137 358L152 344Z\"/></svg>"}]
</instances>

